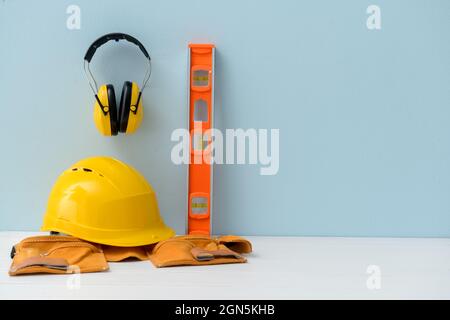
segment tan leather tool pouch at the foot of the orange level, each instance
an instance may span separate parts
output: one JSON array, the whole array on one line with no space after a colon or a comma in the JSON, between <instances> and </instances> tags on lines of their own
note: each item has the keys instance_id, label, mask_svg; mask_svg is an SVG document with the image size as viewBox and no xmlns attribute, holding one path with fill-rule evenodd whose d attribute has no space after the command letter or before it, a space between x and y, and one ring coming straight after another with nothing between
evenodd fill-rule
<instances>
[{"instance_id":1,"label":"tan leather tool pouch at the foot of the orange level","mask_svg":"<svg viewBox=\"0 0 450 320\"><path fill-rule=\"evenodd\" d=\"M251 243L241 237L210 238L189 235L159 242L150 252L149 258L158 268L244 263L247 259L242 254L251 251Z\"/></svg>"}]
</instances>

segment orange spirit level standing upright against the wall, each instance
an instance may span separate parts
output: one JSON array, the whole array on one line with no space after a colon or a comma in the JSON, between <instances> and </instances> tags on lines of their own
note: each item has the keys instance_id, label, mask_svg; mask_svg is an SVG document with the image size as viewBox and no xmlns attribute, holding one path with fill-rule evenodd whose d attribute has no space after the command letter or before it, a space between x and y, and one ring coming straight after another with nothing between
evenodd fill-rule
<instances>
[{"instance_id":1,"label":"orange spirit level standing upright against the wall","mask_svg":"<svg viewBox=\"0 0 450 320\"><path fill-rule=\"evenodd\" d=\"M189 45L188 234L211 234L214 45Z\"/></svg>"}]
</instances>

